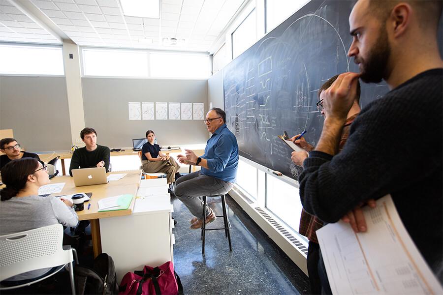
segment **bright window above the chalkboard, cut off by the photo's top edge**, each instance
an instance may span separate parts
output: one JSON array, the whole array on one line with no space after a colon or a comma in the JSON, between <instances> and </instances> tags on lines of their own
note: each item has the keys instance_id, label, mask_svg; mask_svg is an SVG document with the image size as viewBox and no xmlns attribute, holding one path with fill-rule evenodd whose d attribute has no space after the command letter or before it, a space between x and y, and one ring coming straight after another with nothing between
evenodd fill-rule
<instances>
[{"instance_id":1,"label":"bright window above the chalkboard, cut off by the photo's top edge","mask_svg":"<svg viewBox=\"0 0 443 295\"><path fill-rule=\"evenodd\" d=\"M266 0L266 32L274 29L309 0Z\"/></svg>"}]
</instances>

